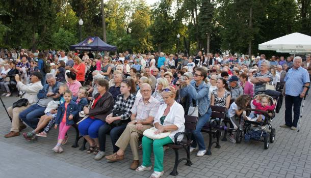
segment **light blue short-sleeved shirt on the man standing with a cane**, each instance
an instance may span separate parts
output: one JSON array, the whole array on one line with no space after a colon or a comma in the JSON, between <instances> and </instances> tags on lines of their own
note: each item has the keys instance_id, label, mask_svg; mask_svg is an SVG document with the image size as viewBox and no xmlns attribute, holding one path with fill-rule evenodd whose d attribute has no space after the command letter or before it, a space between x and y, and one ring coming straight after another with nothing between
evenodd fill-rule
<instances>
[{"instance_id":1,"label":"light blue short-sleeved shirt on the man standing with a cane","mask_svg":"<svg viewBox=\"0 0 311 178\"><path fill-rule=\"evenodd\" d=\"M284 81L285 94L297 97L302 93L303 85L310 82L309 73L302 67L292 68L287 72Z\"/></svg>"}]
</instances>

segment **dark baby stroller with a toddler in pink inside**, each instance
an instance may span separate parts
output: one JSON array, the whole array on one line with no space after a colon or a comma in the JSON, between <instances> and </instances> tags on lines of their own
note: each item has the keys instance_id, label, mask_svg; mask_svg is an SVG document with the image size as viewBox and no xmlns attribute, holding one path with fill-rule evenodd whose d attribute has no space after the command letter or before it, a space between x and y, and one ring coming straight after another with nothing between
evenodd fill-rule
<instances>
[{"instance_id":1,"label":"dark baby stroller with a toddler in pink inside","mask_svg":"<svg viewBox=\"0 0 311 178\"><path fill-rule=\"evenodd\" d=\"M269 95L267 95L269 94ZM260 114L264 115L265 120L263 122L258 121L249 121L245 120L244 124L242 125L242 129L237 129L236 134L236 141L237 143L240 143L242 138L244 138L245 141L248 141L250 139L252 140L258 140L258 141L264 141L264 147L265 149L269 149L270 142L273 143L275 140L275 129L272 128L272 120L275 117L275 110L277 108L277 101L280 97L281 93L277 91L271 91L267 90L262 94L256 95L262 96L268 98L269 105L273 104L273 100L276 100L276 107L273 111L264 111L264 110L258 110L258 109L252 109L247 108L246 111L248 115L250 115L251 112L260 112ZM241 120L240 120L241 121Z\"/></svg>"}]
</instances>

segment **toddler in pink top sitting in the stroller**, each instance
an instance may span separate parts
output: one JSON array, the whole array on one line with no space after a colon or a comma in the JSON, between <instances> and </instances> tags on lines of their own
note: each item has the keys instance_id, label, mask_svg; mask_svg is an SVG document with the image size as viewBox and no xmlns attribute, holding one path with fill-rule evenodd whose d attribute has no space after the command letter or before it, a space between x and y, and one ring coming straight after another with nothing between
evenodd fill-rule
<instances>
[{"instance_id":1,"label":"toddler in pink top sitting in the stroller","mask_svg":"<svg viewBox=\"0 0 311 178\"><path fill-rule=\"evenodd\" d=\"M276 100L273 101L271 106L268 105L269 99L267 97L257 96L256 99L252 101L252 104L255 106L255 109L264 110L264 111L273 111L275 108ZM254 111L247 117L249 121L262 122L265 120L265 116L261 112Z\"/></svg>"}]
</instances>

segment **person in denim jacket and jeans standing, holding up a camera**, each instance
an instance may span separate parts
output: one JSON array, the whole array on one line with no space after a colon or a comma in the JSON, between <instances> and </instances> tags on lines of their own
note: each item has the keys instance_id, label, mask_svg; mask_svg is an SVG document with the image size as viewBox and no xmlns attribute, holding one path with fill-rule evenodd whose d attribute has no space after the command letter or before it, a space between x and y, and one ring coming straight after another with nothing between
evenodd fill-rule
<instances>
[{"instance_id":1,"label":"person in denim jacket and jeans standing, holding up a camera","mask_svg":"<svg viewBox=\"0 0 311 178\"><path fill-rule=\"evenodd\" d=\"M184 78L184 81L180 81L181 84L185 85L185 87L180 90L180 97L190 97L190 101L193 101L192 103L195 103L198 107L199 120L196 125L196 129L192 131L191 139L193 141L190 147L191 153L194 150L197 150L197 145L199 145L199 151L196 156L204 156L206 153L206 147L201 129L210 121L212 114L209 99L209 86L204 81L206 77L207 70L203 67L198 67L195 70L192 81L190 81L187 77ZM193 106L193 104L191 106Z\"/></svg>"}]
</instances>

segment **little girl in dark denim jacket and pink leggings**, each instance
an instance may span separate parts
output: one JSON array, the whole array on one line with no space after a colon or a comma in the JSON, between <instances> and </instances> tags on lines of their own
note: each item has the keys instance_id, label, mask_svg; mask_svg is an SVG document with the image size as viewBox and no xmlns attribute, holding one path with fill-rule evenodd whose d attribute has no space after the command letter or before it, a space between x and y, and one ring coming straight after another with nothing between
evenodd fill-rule
<instances>
[{"instance_id":1,"label":"little girl in dark denim jacket and pink leggings","mask_svg":"<svg viewBox=\"0 0 311 178\"><path fill-rule=\"evenodd\" d=\"M62 153L64 150L61 147L61 143L65 138L65 135L71 125L74 124L73 117L79 113L80 109L75 102L71 101L72 92L66 90L64 93L65 102L57 109L55 129L59 127L59 134L56 146L52 149L56 153Z\"/></svg>"}]
</instances>

